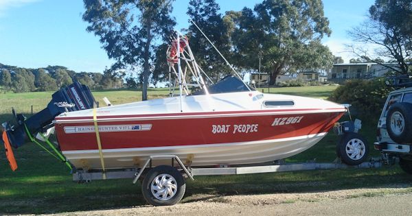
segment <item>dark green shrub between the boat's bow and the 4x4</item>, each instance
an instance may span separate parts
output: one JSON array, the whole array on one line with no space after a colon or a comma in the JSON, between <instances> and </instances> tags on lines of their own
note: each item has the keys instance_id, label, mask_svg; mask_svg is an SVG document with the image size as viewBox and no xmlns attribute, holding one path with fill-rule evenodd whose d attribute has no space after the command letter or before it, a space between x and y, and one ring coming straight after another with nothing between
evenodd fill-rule
<instances>
[{"instance_id":1,"label":"dark green shrub between the boat's bow and the 4x4","mask_svg":"<svg viewBox=\"0 0 412 216\"><path fill-rule=\"evenodd\" d=\"M348 80L336 88L329 99L339 104L352 104L354 114L376 119L391 91L393 88L386 86L382 78Z\"/></svg>"}]
</instances>

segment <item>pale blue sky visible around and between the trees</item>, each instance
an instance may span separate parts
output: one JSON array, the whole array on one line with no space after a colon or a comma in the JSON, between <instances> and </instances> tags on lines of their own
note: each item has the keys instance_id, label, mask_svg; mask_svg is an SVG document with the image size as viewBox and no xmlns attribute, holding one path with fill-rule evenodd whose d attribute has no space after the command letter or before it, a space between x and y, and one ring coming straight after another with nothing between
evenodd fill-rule
<instances>
[{"instance_id":1,"label":"pale blue sky visible around and between the trees","mask_svg":"<svg viewBox=\"0 0 412 216\"><path fill-rule=\"evenodd\" d=\"M262 0L216 0L220 12L253 8ZM189 0L174 1L172 15L177 29L189 25L186 14ZM347 30L366 19L374 0L324 0L325 16L332 34L323 38L334 56L345 62L354 58L345 52L352 43ZM82 21L82 0L0 0L0 63L17 67L38 68L61 65L73 71L102 72L110 67L99 38L86 31Z\"/></svg>"}]
</instances>

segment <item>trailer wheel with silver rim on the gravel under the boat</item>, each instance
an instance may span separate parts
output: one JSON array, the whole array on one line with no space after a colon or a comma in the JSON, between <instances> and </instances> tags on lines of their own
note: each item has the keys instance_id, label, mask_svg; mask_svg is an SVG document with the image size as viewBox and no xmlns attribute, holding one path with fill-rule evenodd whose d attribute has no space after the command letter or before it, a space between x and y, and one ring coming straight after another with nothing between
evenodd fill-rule
<instances>
[{"instance_id":1,"label":"trailer wheel with silver rim on the gravel under the boat","mask_svg":"<svg viewBox=\"0 0 412 216\"><path fill-rule=\"evenodd\" d=\"M154 206L172 206L185 195L186 183L174 167L161 165L148 171L141 184L144 199Z\"/></svg>"}]
</instances>

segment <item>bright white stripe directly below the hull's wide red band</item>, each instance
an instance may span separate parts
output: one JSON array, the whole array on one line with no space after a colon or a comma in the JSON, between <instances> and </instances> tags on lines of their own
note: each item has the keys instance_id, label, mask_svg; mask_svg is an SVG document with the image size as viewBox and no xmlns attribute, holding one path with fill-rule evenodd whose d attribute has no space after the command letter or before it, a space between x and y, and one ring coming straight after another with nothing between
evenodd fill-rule
<instances>
[{"instance_id":1,"label":"bright white stripe directly below the hull's wide red band","mask_svg":"<svg viewBox=\"0 0 412 216\"><path fill-rule=\"evenodd\" d=\"M168 145L168 146L161 146L161 147L130 147L130 148L121 148L121 149L102 149L103 153L119 153L119 152L133 152L133 151L155 151L155 150L163 150L163 149L185 149L191 147L222 147L227 145L257 145L262 143L271 143L271 142L284 142L284 141L295 141L299 139L308 139L314 138L317 136L325 136L328 132L322 132L319 134L309 134L304 136L293 136L288 138L282 139L268 139L262 141L247 141L247 142L237 142L237 143L218 143L218 144L192 144L192 145ZM79 158L71 157L71 154L97 154L95 158L99 158L99 150L98 149L89 149L89 150L69 150L69 151L62 151L63 154L68 159L81 159L82 156ZM89 157L94 158L94 157Z\"/></svg>"}]
</instances>

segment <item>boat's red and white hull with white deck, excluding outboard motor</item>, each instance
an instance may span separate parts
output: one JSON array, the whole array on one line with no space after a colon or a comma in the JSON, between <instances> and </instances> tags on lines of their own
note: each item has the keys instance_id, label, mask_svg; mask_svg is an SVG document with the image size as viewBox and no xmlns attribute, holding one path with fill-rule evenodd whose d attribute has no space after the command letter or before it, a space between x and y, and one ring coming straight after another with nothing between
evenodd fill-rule
<instances>
[{"instance_id":1,"label":"boat's red and white hull with white deck, excluding outboard motor","mask_svg":"<svg viewBox=\"0 0 412 216\"><path fill-rule=\"evenodd\" d=\"M106 168L135 167L159 154L192 160L192 166L287 158L319 142L345 112L322 99L258 91L185 96L182 112L179 101L170 97L97 108ZM66 112L55 121L66 158L76 167L100 168L93 110Z\"/></svg>"}]
</instances>

